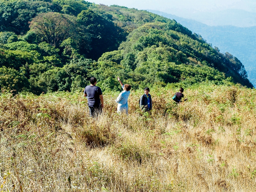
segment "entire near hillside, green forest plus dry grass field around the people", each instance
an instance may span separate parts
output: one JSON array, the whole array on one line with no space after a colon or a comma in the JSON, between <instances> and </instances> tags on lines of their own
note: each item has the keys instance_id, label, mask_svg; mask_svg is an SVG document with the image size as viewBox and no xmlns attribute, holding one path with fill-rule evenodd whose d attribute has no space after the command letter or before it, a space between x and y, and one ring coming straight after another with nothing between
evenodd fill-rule
<instances>
[{"instance_id":1,"label":"entire near hillside, green forest plus dry grass field around the people","mask_svg":"<svg viewBox=\"0 0 256 192\"><path fill-rule=\"evenodd\" d=\"M0 0L0 13L0 191L256 191L256 92L238 58L117 5ZM92 76L97 118L81 92Z\"/></svg>"}]
</instances>

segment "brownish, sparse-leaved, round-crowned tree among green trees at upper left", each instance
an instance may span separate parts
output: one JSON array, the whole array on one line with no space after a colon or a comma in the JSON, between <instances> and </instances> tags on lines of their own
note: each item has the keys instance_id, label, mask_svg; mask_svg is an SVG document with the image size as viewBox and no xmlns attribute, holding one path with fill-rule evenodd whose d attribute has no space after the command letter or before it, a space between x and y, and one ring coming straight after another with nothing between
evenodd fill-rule
<instances>
[{"instance_id":1,"label":"brownish, sparse-leaved, round-crowned tree among green trees at upper left","mask_svg":"<svg viewBox=\"0 0 256 192\"><path fill-rule=\"evenodd\" d=\"M75 38L76 34L75 17L54 12L37 15L29 27L41 36L42 41L54 47L58 47L69 37Z\"/></svg>"}]
</instances>

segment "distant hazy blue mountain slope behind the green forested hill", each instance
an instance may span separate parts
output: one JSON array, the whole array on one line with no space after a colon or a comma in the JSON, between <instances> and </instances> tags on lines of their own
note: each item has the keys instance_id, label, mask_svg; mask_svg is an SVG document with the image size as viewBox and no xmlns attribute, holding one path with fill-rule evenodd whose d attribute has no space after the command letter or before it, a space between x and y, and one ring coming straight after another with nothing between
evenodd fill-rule
<instances>
[{"instance_id":1,"label":"distant hazy blue mountain slope behind the green forested hill","mask_svg":"<svg viewBox=\"0 0 256 192\"><path fill-rule=\"evenodd\" d=\"M221 52L229 52L237 57L245 66L248 79L256 86L256 26L209 26L193 19L185 19L161 11L148 11L175 19L189 30L200 34L208 43L218 47Z\"/></svg>"}]
</instances>

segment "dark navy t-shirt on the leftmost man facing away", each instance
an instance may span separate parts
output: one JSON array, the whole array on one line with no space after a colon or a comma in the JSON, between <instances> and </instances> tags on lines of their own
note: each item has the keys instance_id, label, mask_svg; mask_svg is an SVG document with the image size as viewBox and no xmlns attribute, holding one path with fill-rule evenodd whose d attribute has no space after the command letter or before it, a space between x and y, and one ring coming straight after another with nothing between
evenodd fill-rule
<instances>
[{"instance_id":1,"label":"dark navy t-shirt on the leftmost man facing away","mask_svg":"<svg viewBox=\"0 0 256 192\"><path fill-rule=\"evenodd\" d=\"M85 87L84 93L87 94L88 105L90 107L99 107L101 105L99 98L99 95L102 95L101 88L88 85Z\"/></svg>"}]
</instances>

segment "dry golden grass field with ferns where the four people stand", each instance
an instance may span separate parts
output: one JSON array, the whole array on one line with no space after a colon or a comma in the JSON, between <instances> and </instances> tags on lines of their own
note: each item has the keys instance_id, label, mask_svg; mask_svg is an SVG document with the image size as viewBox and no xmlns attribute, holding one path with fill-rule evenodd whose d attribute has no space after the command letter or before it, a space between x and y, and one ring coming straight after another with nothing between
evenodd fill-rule
<instances>
[{"instance_id":1,"label":"dry golden grass field with ferns where the four people stand","mask_svg":"<svg viewBox=\"0 0 256 192\"><path fill-rule=\"evenodd\" d=\"M89 118L82 94L0 95L0 191L256 191L256 91L228 86L115 96Z\"/></svg>"}]
</instances>

